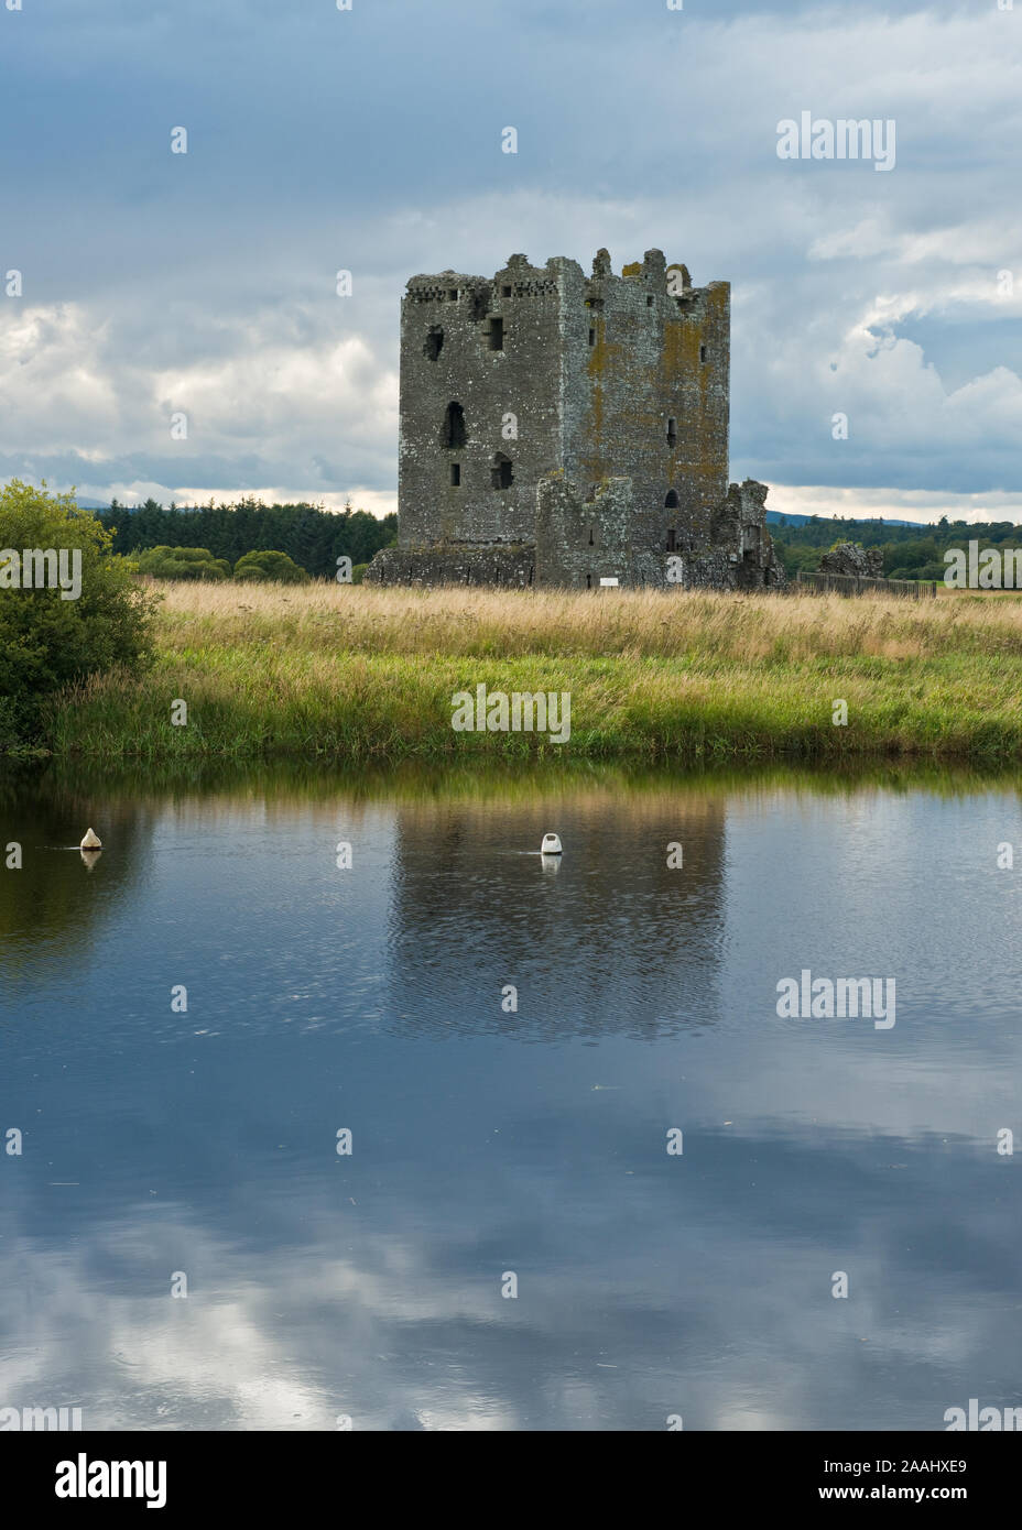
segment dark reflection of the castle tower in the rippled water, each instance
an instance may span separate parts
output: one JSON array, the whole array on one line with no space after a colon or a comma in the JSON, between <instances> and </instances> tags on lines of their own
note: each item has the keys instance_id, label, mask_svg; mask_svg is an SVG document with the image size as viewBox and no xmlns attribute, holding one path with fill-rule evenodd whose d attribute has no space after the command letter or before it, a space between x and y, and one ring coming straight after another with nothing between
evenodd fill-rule
<instances>
[{"instance_id":1,"label":"dark reflection of the castle tower in the rippled water","mask_svg":"<svg viewBox=\"0 0 1022 1530\"><path fill-rule=\"evenodd\" d=\"M554 1039L711 1022L724 825L722 794L682 785L399 803L390 1024ZM539 854L546 831L563 855Z\"/></svg>"}]
</instances>

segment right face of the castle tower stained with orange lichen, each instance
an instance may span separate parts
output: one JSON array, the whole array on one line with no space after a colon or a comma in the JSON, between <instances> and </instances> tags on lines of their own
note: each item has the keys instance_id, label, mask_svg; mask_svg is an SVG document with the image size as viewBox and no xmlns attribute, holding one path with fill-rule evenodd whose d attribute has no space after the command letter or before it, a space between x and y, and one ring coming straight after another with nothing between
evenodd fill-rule
<instances>
[{"instance_id":1,"label":"right face of the castle tower stained with orange lichen","mask_svg":"<svg viewBox=\"0 0 1022 1530\"><path fill-rule=\"evenodd\" d=\"M565 473L580 487L630 477L636 546L705 545L728 480L730 286L667 291L661 251L615 277L606 251L565 311ZM592 344L591 341L592 334ZM669 441L669 419L676 441ZM666 509L669 490L678 509Z\"/></svg>"}]
</instances>

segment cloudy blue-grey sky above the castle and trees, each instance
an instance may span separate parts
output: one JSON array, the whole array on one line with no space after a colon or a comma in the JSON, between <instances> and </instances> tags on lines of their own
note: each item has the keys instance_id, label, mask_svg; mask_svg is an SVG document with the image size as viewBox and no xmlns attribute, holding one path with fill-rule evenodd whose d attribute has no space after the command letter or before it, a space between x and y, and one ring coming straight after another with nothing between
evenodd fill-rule
<instances>
[{"instance_id":1,"label":"cloudy blue-grey sky above the castle and trees","mask_svg":"<svg viewBox=\"0 0 1022 1530\"><path fill-rule=\"evenodd\" d=\"M1022 0L0 0L0 480L393 509L408 275L658 246L771 508L1022 522Z\"/></svg>"}]
</instances>

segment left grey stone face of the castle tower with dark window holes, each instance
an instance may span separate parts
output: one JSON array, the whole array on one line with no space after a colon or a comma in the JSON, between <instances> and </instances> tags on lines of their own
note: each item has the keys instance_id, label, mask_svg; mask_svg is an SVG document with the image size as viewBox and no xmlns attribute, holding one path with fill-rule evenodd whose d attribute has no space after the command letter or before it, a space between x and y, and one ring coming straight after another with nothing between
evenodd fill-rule
<instances>
[{"instance_id":1,"label":"left grey stone face of the castle tower with dark window holes","mask_svg":"<svg viewBox=\"0 0 1022 1530\"><path fill-rule=\"evenodd\" d=\"M399 545L525 543L534 540L535 485L561 451L561 268L511 256L493 280L451 271L408 282L401 304ZM454 295L456 294L456 295ZM493 320L503 346L491 349ZM430 329L442 330L436 360ZM467 441L444 447L447 405L465 415ZM517 439L502 419L517 418ZM494 488L496 453L513 482ZM451 483L451 465L461 483Z\"/></svg>"}]
</instances>

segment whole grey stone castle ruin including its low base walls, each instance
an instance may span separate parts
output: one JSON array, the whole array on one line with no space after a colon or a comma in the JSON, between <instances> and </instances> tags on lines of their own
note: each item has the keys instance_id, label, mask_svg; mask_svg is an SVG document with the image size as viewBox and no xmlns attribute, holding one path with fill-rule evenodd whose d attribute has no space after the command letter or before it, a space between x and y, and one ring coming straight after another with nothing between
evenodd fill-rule
<instances>
[{"instance_id":1,"label":"whole grey stone castle ruin including its low base walls","mask_svg":"<svg viewBox=\"0 0 1022 1530\"><path fill-rule=\"evenodd\" d=\"M398 545L386 584L782 583L766 488L728 487L727 282L659 249L620 277L511 256L412 277L401 304Z\"/></svg>"}]
</instances>

